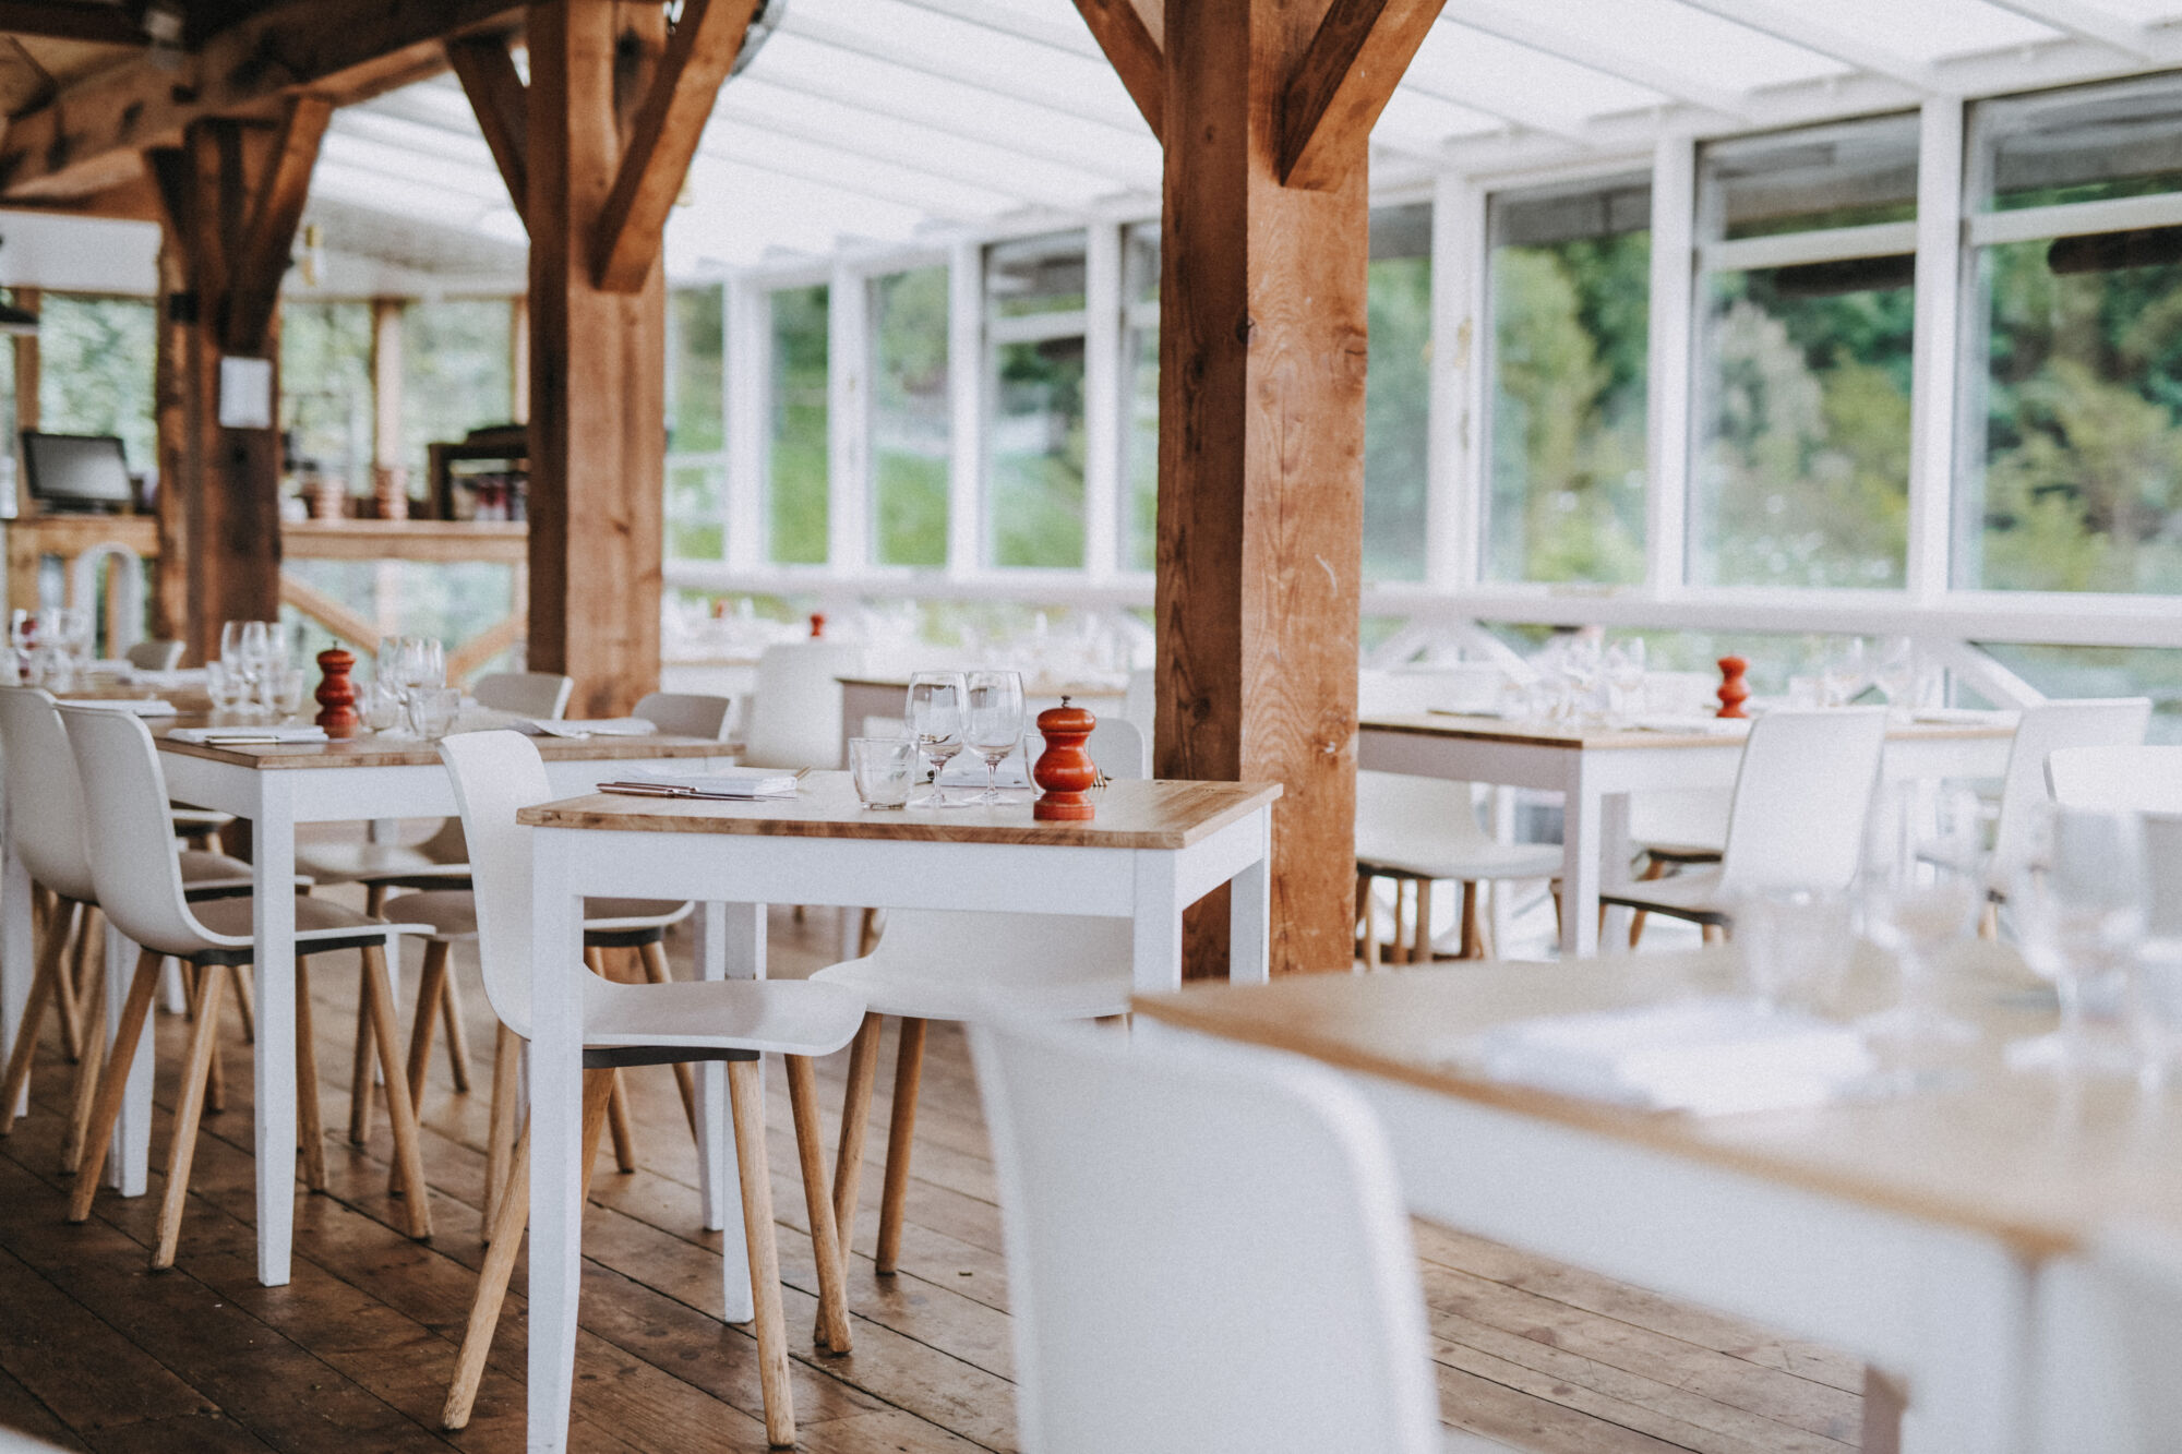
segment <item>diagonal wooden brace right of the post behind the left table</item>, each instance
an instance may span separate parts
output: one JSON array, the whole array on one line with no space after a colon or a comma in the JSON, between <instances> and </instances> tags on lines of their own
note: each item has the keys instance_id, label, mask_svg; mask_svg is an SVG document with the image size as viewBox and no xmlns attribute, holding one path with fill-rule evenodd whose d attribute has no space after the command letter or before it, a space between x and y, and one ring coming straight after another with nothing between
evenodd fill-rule
<instances>
[{"instance_id":1,"label":"diagonal wooden brace right of the post behind the left table","mask_svg":"<svg viewBox=\"0 0 2182 1454\"><path fill-rule=\"evenodd\" d=\"M757 0L683 0L598 214L591 277L604 293L639 290L659 262L668 210L755 15Z\"/></svg>"}]
</instances>

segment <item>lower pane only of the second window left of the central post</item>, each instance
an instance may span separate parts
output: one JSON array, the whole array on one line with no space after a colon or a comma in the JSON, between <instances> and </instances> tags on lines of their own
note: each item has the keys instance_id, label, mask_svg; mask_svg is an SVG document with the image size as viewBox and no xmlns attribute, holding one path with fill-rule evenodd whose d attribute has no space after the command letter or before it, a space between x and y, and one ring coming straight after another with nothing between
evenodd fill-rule
<instances>
[{"instance_id":1,"label":"lower pane only of the second window left of the central post","mask_svg":"<svg viewBox=\"0 0 2182 1454\"><path fill-rule=\"evenodd\" d=\"M1084 563L1084 341L1002 343L986 478L993 563Z\"/></svg>"}]
</instances>

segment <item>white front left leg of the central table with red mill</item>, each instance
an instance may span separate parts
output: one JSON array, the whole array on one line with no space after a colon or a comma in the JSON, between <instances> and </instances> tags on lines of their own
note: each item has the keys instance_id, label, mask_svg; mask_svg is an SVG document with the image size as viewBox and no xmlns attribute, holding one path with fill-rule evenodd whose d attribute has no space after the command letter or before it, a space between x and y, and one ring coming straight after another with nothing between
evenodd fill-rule
<instances>
[{"instance_id":1,"label":"white front left leg of the central table with red mill","mask_svg":"<svg viewBox=\"0 0 2182 1454\"><path fill-rule=\"evenodd\" d=\"M563 834L532 834L530 1439L567 1447L583 1255L583 899Z\"/></svg>"}]
</instances>

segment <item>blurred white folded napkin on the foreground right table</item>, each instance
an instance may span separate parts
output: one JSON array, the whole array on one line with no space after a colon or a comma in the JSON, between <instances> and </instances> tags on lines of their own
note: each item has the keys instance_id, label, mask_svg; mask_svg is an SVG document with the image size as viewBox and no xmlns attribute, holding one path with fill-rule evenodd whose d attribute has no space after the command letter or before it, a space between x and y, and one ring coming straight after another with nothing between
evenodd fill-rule
<instances>
[{"instance_id":1,"label":"blurred white folded napkin on the foreground right table","mask_svg":"<svg viewBox=\"0 0 2182 1454\"><path fill-rule=\"evenodd\" d=\"M1877 1070L1855 1030L1748 1000L1519 1020L1449 1059L1562 1096L1700 1116L1824 1105Z\"/></svg>"}]
</instances>

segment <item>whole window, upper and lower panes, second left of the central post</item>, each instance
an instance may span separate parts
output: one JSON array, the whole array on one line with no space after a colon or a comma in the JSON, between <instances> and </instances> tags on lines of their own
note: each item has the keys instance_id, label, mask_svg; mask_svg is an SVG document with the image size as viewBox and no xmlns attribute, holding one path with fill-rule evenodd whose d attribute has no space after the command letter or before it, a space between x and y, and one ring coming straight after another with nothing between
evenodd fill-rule
<instances>
[{"instance_id":1,"label":"whole window, upper and lower panes, second left of the central post","mask_svg":"<svg viewBox=\"0 0 2182 1454\"><path fill-rule=\"evenodd\" d=\"M986 251L988 559L1084 563L1084 234Z\"/></svg>"}]
</instances>

